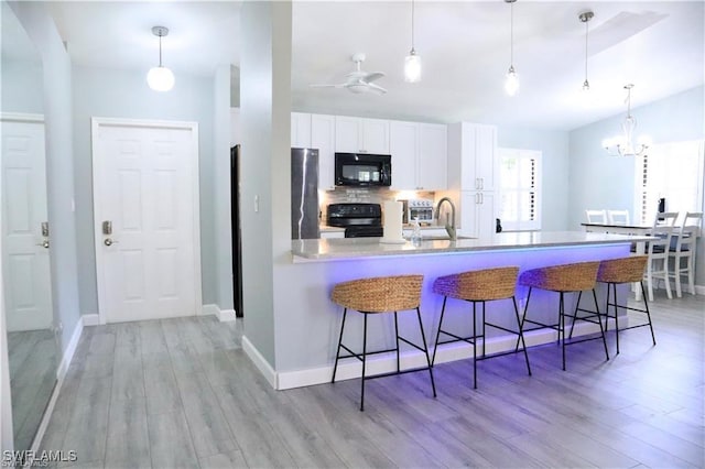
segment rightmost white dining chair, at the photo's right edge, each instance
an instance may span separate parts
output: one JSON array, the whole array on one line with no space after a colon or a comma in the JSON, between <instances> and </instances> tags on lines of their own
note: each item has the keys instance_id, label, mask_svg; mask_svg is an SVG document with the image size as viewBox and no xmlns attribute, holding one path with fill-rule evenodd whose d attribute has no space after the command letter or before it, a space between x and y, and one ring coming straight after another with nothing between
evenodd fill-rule
<instances>
[{"instance_id":1,"label":"rightmost white dining chair, at the photo's right edge","mask_svg":"<svg viewBox=\"0 0 705 469\"><path fill-rule=\"evenodd\" d=\"M695 295L695 248L702 223L702 211L686 211L669 252L669 258L673 260L670 276L675 280L675 294L679 298L682 296L682 276L687 277L687 287L691 294Z\"/></svg>"}]
</instances>

